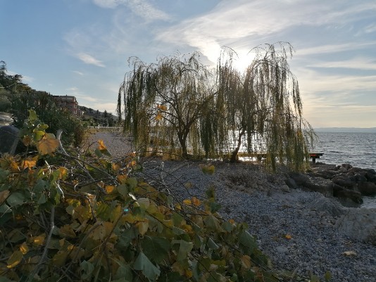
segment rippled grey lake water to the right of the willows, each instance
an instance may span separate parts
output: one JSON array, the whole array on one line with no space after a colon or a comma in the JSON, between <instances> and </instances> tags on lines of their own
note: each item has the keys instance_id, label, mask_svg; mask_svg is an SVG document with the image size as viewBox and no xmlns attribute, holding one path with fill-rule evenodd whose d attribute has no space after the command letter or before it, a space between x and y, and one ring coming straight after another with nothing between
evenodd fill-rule
<instances>
[{"instance_id":1,"label":"rippled grey lake water to the right of the willows","mask_svg":"<svg viewBox=\"0 0 376 282\"><path fill-rule=\"evenodd\" d=\"M324 153L316 162L376 169L376 133L316 132L315 153ZM376 207L376 197L363 197L364 207Z\"/></svg>"}]
</instances>

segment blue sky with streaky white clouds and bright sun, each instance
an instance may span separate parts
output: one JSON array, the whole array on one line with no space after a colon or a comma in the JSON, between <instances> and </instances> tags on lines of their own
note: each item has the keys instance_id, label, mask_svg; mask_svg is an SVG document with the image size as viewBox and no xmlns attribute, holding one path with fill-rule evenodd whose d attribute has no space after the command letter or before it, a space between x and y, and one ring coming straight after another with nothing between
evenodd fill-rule
<instances>
[{"instance_id":1,"label":"blue sky with streaky white clouds and bright sun","mask_svg":"<svg viewBox=\"0 0 376 282\"><path fill-rule=\"evenodd\" d=\"M115 114L128 58L287 41L313 127L376 127L375 0L0 0L0 60L33 89Z\"/></svg>"}]
</instances>

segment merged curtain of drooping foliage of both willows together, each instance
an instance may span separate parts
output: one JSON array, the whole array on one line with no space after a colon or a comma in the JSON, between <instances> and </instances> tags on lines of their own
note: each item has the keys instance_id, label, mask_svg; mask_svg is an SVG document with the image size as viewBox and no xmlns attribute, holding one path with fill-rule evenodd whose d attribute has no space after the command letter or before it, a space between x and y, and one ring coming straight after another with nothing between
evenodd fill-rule
<instances>
[{"instance_id":1,"label":"merged curtain of drooping foliage of both willows together","mask_svg":"<svg viewBox=\"0 0 376 282\"><path fill-rule=\"evenodd\" d=\"M216 72L198 52L149 65L133 59L118 97L124 131L144 150L235 161L245 148L266 154L272 169L277 161L303 169L314 133L302 117L299 84L289 70L292 46L266 44L251 52L255 58L243 73L228 48Z\"/></svg>"}]
</instances>

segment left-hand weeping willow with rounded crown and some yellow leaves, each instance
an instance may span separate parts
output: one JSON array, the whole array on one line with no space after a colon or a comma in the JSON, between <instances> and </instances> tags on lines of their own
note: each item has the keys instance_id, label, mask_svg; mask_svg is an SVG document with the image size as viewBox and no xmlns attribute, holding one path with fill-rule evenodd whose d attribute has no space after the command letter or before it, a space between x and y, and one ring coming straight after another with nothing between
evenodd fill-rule
<instances>
[{"instance_id":1,"label":"left-hand weeping willow with rounded crown and some yellow leaves","mask_svg":"<svg viewBox=\"0 0 376 282\"><path fill-rule=\"evenodd\" d=\"M132 60L133 70L120 86L118 113L124 109L124 131L137 146L152 143L171 151L177 144L183 158L201 153L199 120L211 110L215 93L213 75L199 56L162 57L149 65Z\"/></svg>"}]
</instances>

